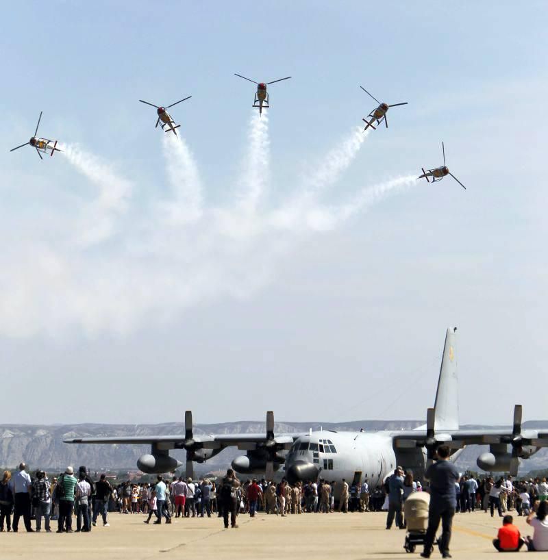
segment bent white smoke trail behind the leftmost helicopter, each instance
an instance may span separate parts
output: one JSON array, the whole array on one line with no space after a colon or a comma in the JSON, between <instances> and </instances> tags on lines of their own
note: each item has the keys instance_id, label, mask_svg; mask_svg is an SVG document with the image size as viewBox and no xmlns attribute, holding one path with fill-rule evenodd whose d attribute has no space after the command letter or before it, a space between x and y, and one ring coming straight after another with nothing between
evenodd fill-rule
<instances>
[{"instance_id":1,"label":"bent white smoke trail behind the leftmost helicopter","mask_svg":"<svg viewBox=\"0 0 548 560\"><path fill-rule=\"evenodd\" d=\"M61 154L99 187L99 196L86 208L75 241L84 246L103 242L115 233L116 216L127 210L132 182L118 175L112 165L84 151L78 144L64 144L61 149Z\"/></svg>"}]
</instances>

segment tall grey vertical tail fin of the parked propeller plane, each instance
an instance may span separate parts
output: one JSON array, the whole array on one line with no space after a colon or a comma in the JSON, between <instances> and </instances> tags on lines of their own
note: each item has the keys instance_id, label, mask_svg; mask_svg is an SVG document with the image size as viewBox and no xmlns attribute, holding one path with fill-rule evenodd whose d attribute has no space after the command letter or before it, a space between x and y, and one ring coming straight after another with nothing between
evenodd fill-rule
<instances>
[{"instance_id":1,"label":"tall grey vertical tail fin of the parked propeller plane","mask_svg":"<svg viewBox=\"0 0 548 560\"><path fill-rule=\"evenodd\" d=\"M458 377L456 356L456 327L447 329L441 361L438 390L436 391L436 432L458 430Z\"/></svg>"}]
</instances>

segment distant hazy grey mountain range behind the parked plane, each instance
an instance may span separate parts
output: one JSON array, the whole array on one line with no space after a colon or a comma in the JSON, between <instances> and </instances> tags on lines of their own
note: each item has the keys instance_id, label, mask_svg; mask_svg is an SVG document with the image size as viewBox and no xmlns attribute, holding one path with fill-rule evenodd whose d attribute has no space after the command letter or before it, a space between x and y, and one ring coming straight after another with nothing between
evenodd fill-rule
<instances>
[{"instance_id":1,"label":"distant hazy grey mountain range behind the parked plane","mask_svg":"<svg viewBox=\"0 0 548 560\"><path fill-rule=\"evenodd\" d=\"M424 424L423 420L358 420L354 422L279 422L276 433L308 432L323 427L329 430L366 431L410 430ZM546 421L524 422L523 428L547 428ZM500 426L468 425L463 429L501 428ZM264 433L264 421L224 422L222 424L195 424L195 435L210 433ZM15 425L0 424L0 466L14 468L22 460L31 469L60 470L67 465L86 465L91 470L136 469L138 457L150 452L150 446L131 445L69 445L63 440L69 437L105 437L128 435L184 435L184 426L177 422L169 424L62 424L62 425ZM457 461L458 468L477 470L475 460L488 446L469 446ZM236 448L227 448L203 466L195 463L198 474L227 468L237 455L245 454ZM173 457L185 461L185 452L171 451ZM520 472L548 467L548 448L540 450L531 459L522 462Z\"/></svg>"}]
</instances>

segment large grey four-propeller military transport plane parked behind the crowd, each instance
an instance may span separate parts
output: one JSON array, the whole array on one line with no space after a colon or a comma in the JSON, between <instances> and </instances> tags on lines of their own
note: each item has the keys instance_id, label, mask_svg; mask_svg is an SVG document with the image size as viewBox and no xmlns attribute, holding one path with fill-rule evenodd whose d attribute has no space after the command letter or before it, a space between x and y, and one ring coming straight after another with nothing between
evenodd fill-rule
<instances>
[{"instance_id":1,"label":"large grey four-propeller military transport plane parked behind the crowd","mask_svg":"<svg viewBox=\"0 0 548 560\"><path fill-rule=\"evenodd\" d=\"M461 430L458 424L458 381L456 329L447 329L434 408L427 411L424 426L409 431L309 431L279 434L274 432L274 414L266 413L266 433L199 435L192 432L192 412L185 413L185 433L136 437L89 437L64 440L71 444L151 444L151 453L142 455L138 468L147 473L162 473L181 466L169 456L170 449L186 449L186 476L192 476L192 462L203 463L225 447L237 446L246 455L232 461L241 474L264 473L272 479L285 464L290 482L329 481L343 478L354 483L367 479L371 487L382 483L395 466L412 470L421 479L425 467L436 458L436 449L447 445L456 459L462 448L489 444L490 451L477 458L479 468L510 471L516 474L519 459L527 459L548 446L548 429L521 429L521 405L514 409L510 429ZM510 449L508 448L510 446ZM340 485L337 485L340 487ZM335 494L336 498L337 492Z\"/></svg>"}]
</instances>

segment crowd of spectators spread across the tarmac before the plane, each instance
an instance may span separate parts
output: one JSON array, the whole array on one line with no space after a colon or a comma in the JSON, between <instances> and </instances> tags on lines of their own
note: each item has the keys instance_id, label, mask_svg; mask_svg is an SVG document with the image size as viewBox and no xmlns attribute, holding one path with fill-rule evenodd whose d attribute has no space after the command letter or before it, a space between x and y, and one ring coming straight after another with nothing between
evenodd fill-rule
<instances>
[{"instance_id":1,"label":"crowd of spectators spread across the tarmac before the plane","mask_svg":"<svg viewBox=\"0 0 548 560\"><path fill-rule=\"evenodd\" d=\"M3 472L0 532L4 527L7 531L18 532L19 520L23 518L25 530L29 532L42 531L43 519L46 532L52 531L51 521L57 521L57 533L87 533L97 525L97 520L108 527L108 514L112 512L142 514L147 516L143 520L145 524L152 518L154 524L171 524L174 517L219 516L228 528L238 526L238 514L249 514L253 518L257 511L263 511L284 517L337 510L342 513L387 511L386 529L391 529L394 522L405 529L403 506L406 499L414 492L427 491L431 502L438 503L434 509L438 508L439 516L433 531L435 535L441 520L443 534L447 533L447 557L451 528L449 523L447 531L444 515L449 519L454 513L477 510L491 516L497 511L503 518L493 542L497 550L519 550L523 544L529 550L548 550L548 483L545 478L514 481L512 476L497 480L489 476L484 479L475 479L472 475L459 477L452 463L447 461L447 468L443 464L443 460L437 461L427 470L425 487L414 480L412 472L397 467L394 474L375 489L369 487L367 480L349 485L345 479L336 489L334 481L325 479L293 485L286 479L279 483L247 479L242 483L232 469L216 480L192 481L183 476L164 479L158 475L154 483L125 481L112 485L105 474L92 481L85 467L80 467L77 473L67 467L50 481L43 470L31 476L25 463L21 463L13 476L8 470ZM335 494L340 496L338 504ZM521 537L508 514L510 511L527 517L527 523L534 529L532 537ZM76 529L73 529L73 518Z\"/></svg>"}]
</instances>

